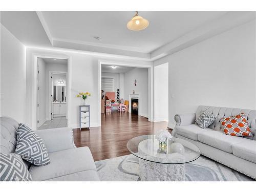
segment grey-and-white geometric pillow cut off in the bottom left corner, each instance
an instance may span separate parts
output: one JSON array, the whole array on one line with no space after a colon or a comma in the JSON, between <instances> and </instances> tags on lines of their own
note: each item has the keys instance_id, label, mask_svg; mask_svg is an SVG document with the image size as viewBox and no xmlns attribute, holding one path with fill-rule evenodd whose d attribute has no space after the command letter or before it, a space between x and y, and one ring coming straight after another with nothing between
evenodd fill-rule
<instances>
[{"instance_id":1,"label":"grey-and-white geometric pillow cut off in the bottom left corner","mask_svg":"<svg viewBox=\"0 0 256 192\"><path fill-rule=\"evenodd\" d=\"M19 155L0 153L0 181L32 181L32 177Z\"/></svg>"}]
</instances>

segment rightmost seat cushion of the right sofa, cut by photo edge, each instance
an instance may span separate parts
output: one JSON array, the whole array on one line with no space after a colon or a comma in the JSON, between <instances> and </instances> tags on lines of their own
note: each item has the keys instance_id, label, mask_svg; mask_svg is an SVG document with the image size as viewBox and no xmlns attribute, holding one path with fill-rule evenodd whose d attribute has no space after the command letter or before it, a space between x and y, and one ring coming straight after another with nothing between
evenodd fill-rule
<instances>
[{"instance_id":1,"label":"rightmost seat cushion of the right sofa, cut by photo edge","mask_svg":"<svg viewBox=\"0 0 256 192\"><path fill-rule=\"evenodd\" d=\"M232 145L233 155L256 163L256 141L245 139Z\"/></svg>"}]
</instances>

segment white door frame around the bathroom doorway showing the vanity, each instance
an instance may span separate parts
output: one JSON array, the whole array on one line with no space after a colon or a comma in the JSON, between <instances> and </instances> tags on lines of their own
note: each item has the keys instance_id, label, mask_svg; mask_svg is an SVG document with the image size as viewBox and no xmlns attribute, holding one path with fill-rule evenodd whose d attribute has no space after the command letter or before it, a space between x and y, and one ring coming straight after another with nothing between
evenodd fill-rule
<instances>
[{"instance_id":1,"label":"white door frame around the bathroom doorway showing the vanity","mask_svg":"<svg viewBox=\"0 0 256 192\"><path fill-rule=\"evenodd\" d=\"M66 72L66 71L49 71L49 75L48 75L48 77L49 77L49 84L48 84L48 88L49 88L48 89L48 93L49 93L49 95L48 95L48 109L49 109L49 111L48 111L48 120L51 120L51 118L49 118L49 117L51 117L51 113L52 113L52 97L53 97L53 93L52 93L52 96L51 96L50 92L52 92L52 89L53 89L52 78L51 78L51 75L53 73L54 74L65 74L66 75L66 79L67 79L66 81L68 81L68 78L67 78L68 72ZM68 83L66 83L66 95L67 95L67 84ZM67 95L67 98L68 98L68 95ZM68 104L68 101L66 102L66 104ZM66 110L66 119L68 119L67 112L68 112L68 110Z\"/></svg>"}]
</instances>

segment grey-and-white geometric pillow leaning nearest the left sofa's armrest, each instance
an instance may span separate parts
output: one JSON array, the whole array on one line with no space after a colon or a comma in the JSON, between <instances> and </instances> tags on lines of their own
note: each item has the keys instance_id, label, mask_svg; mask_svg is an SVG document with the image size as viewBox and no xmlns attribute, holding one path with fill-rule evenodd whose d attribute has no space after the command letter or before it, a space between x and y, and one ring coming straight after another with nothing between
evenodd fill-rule
<instances>
[{"instance_id":1,"label":"grey-and-white geometric pillow leaning nearest the left sofa's armrest","mask_svg":"<svg viewBox=\"0 0 256 192\"><path fill-rule=\"evenodd\" d=\"M28 126L20 123L15 153L30 163L42 166L50 163L45 142Z\"/></svg>"}]
</instances>

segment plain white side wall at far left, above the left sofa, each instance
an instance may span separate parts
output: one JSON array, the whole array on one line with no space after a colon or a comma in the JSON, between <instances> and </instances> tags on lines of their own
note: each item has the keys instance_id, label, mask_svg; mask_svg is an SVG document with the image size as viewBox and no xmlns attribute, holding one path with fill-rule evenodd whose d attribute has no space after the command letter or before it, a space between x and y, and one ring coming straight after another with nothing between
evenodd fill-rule
<instances>
[{"instance_id":1,"label":"plain white side wall at far left, above the left sofa","mask_svg":"<svg viewBox=\"0 0 256 192\"><path fill-rule=\"evenodd\" d=\"M25 122L26 48L1 24L1 116Z\"/></svg>"}]
</instances>

